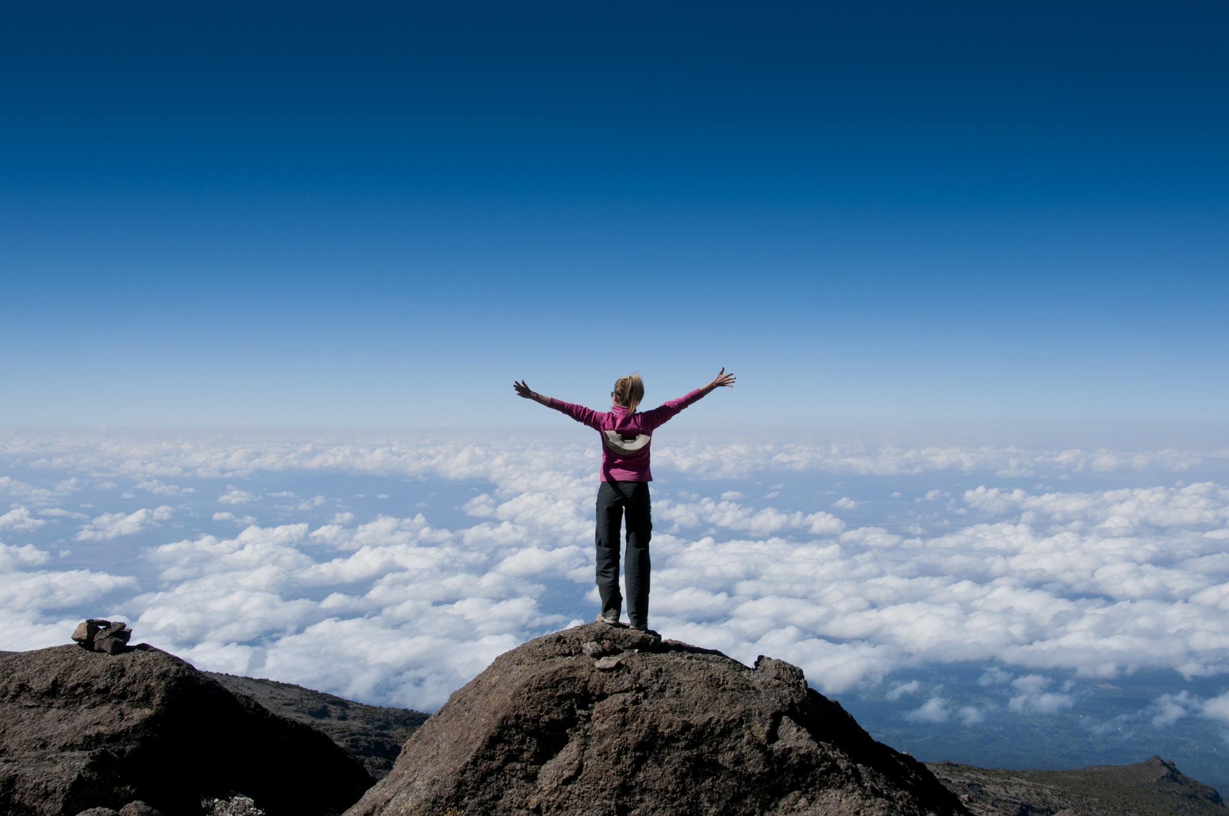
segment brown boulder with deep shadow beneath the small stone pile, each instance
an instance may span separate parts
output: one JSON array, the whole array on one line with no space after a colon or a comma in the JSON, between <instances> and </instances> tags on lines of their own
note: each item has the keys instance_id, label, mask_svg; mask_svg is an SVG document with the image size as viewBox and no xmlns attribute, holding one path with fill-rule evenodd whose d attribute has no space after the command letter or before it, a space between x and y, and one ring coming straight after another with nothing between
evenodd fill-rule
<instances>
[{"instance_id":1,"label":"brown boulder with deep shadow beneath the small stone pile","mask_svg":"<svg viewBox=\"0 0 1229 816\"><path fill-rule=\"evenodd\" d=\"M75 816L141 800L193 815L238 791L270 816L342 811L372 783L327 736L145 644L0 660L0 812Z\"/></svg>"}]
</instances>

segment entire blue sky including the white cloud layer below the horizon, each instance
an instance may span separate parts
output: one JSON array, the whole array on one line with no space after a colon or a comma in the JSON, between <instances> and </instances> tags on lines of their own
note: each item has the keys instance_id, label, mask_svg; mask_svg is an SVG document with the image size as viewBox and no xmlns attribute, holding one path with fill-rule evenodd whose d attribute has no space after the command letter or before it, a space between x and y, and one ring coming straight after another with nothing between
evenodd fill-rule
<instances>
[{"instance_id":1,"label":"entire blue sky including the white cloud layer below the horizon","mask_svg":"<svg viewBox=\"0 0 1229 816\"><path fill-rule=\"evenodd\" d=\"M511 381L724 365L664 632L1229 784L1224 5L0 14L0 426L82 426L0 428L0 649L433 708L596 611L596 440Z\"/></svg>"}]
</instances>

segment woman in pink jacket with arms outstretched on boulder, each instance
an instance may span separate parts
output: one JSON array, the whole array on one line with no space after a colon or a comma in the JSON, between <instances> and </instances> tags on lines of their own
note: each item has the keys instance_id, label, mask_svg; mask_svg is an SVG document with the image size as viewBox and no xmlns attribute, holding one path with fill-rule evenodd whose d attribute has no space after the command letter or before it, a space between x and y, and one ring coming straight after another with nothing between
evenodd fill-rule
<instances>
[{"instance_id":1,"label":"woman in pink jacket with arms outstretched on boulder","mask_svg":"<svg viewBox=\"0 0 1229 816\"><path fill-rule=\"evenodd\" d=\"M638 374L619 377L611 391L611 409L597 413L553 397L530 391L525 381L512 382L516 394L554 408L589 425L602 439L601 484L597 488L597 591L602 611L597 619L618 624L623 596L618 591L618 532L627 512L627 564L623 580L627 585L627 617L640 630L649 628L649 538L653 521L649 511L649 442L653 431L671 417L708 392L721 386L734 386L734 375L723 367L713 381L685 397L671 399L643 414L635 408L644 398L644 382Z\"/></svg>"}]
</instances>

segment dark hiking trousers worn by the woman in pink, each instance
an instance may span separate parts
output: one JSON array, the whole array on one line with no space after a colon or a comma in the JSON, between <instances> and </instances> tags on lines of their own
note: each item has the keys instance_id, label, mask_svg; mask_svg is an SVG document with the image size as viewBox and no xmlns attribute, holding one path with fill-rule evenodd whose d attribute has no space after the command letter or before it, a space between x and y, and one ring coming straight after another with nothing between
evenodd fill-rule
<instances>
[{"instance_id":1,"label":"dark hiking trousers worn by the woman in pink","mask_svg":"<svg viewBox=\"0 0 1229 816\"><path fill-rule=\"evenodd\" d=\"M617 616L623 606L618 591L618 528L627 514L627 562L623 583L627 586L627 617L632 626L649 626L649 516L648 482L602 482L597 488L597 592L602 613Z\"/></svg>"}]
</instances>

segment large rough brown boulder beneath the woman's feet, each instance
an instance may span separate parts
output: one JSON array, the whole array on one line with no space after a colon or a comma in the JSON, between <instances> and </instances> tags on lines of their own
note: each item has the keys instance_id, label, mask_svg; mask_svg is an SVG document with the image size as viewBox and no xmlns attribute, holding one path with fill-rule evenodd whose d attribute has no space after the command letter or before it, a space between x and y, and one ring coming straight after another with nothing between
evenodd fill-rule
<instances>
[{"instance_id":1,"label":"large rough brown boulder beneath the woman's feet","mask_svg":"<svg viewBox=\"0 0 1229 816\"><path fill-rule=\"evenodd\" d=\"M594 623L500 655L347 816L967 814L803 671Z\"/></svg>"}]
</instances>

